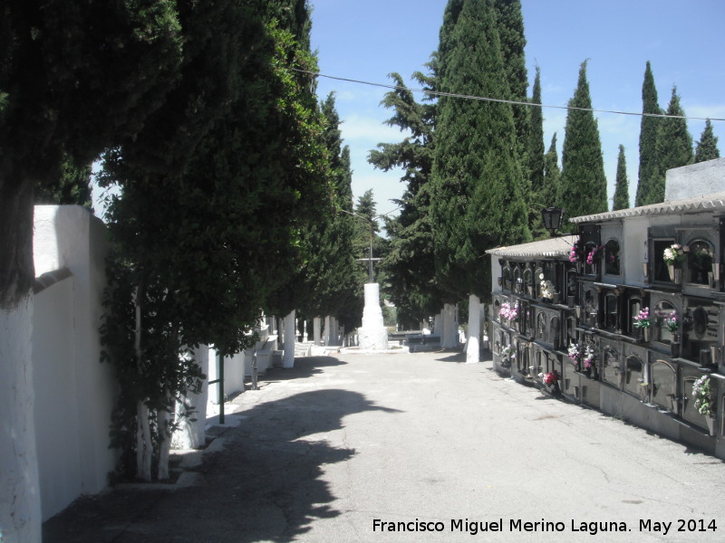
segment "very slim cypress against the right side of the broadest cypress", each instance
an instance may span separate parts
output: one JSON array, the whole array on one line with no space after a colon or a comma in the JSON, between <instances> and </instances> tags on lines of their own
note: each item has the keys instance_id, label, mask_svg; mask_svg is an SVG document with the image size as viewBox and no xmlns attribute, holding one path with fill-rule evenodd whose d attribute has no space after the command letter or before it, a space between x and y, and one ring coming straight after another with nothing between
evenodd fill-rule
<instances>
[{"instance_id":1,"label":"very slim cypress against the right side of the broadest cypress","mask_svg":"<svg viewBox=\"0 0 725 543\"><path fill-rule=\"evenodd\" d=\"M538 66L531 102L541 104L541 71ZM538 106L531 108L529 116L527 163L528 179L524 186L528 205L528 227L535 238L545 237L547 233L541 220L541 209L547 206L544 203L544 115Z\"/></svg>"}]
</instances>

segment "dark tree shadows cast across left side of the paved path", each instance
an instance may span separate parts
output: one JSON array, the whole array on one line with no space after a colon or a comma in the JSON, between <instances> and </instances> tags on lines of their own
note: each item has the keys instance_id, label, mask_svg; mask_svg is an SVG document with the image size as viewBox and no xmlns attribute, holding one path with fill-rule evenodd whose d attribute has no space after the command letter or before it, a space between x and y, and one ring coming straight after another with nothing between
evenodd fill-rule
<instances>
[{"instance_id":1,"label":"dark tree shadows cast across left side of the paved path","mask_svg":"<svg viewBox=\"0 0 725 543\"><path fill-rule=\"evenodd\" d=\"M275 370L270 377L294 378L293 371L309 376L320 363L342 364L332 357L300 362L295 370ZM43 541L290 541L309 531L315 519L340 514L322 478L324 466L345 462L355 451L340 446L340 433L330 433L343 427L344 417L369 411L398 413L359 393L326 389L227 415L239 425L224 429L221 452L205 456L198 486L82 498L43 525Z\"/></svg>"}]
</instances>

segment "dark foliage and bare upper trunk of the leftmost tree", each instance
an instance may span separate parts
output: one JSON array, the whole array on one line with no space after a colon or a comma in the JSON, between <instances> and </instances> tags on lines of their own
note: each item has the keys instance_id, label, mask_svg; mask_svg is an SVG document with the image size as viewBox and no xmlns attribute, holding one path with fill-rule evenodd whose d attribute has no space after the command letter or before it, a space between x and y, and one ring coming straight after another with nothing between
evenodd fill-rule
<instances>
[{"instance_id":1,"label":"dark foliage and bare upper trunk of the leftmost tree","mask_svg":"<svg viewBox=\"0 0 725 543\"><path fill-rule=\"evenodd\" d=\"M0 6L0 305L33 282L33 189L131 137L179 75L177 3ZM53 189L51 189L53 191Z\"/></svg>"}]
</instances>

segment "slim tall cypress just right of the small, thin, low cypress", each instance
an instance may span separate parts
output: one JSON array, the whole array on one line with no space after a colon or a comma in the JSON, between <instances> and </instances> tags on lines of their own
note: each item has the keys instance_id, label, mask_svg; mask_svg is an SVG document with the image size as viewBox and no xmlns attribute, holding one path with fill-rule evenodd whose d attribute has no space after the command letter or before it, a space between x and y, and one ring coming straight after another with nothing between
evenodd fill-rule
<instances>
[{"instance_id":1,"label":"slim tall cypress just right of the small, thin, low cypress","mask_svg":"<svg viewBox=\"0 0 725 543\"><path fill-rule=\"evenodd\" d=\"M654 86L652 66L647 61L642 83L642 122L640 123L640 166L638 171L637 194L634 205L648 205L656 200L652 193L652 184L657 176L657 128L661 118L652 117L662 114L657 102L657 89Z\"/></svg>"}]
</instances>

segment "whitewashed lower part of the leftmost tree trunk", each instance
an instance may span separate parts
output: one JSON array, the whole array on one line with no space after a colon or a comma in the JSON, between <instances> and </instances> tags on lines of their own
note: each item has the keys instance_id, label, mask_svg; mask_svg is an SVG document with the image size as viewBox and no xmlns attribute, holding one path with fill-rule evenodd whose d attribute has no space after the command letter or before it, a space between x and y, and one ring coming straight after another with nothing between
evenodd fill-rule
<instances>
[{"instance_id":1,"label":"whitewashed lower part of the leftmost tree trunk","mask_svg":"<svg viewBox=\"0 0 725 543\"><path fill-rule=\"evenodd\" d=\"M0 539L40 543L41 509L35 452L33 297L0 308Z\"/></svg>"}]
</instances>

